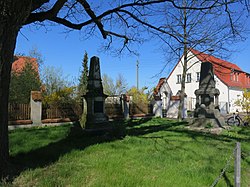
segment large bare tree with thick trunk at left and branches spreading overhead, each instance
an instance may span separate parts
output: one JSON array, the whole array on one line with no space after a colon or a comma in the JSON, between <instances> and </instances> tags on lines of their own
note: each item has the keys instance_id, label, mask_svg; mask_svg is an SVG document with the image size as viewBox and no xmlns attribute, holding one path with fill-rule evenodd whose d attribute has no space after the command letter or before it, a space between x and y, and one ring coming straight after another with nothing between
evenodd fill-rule
<instances>
[{"instance_id":1,"label":"large bare tree with thick trunk at left and branches spreading overhead","mask_svg":"<svg viewBox=\"0 0 250 187\"><path fill-rule=\"evenodd\" d=\"M229 5L241 0L202 0L196 7L179 5L175 0L0 0L0 175L8 168L8 97L11 64L20 29L29 24L63 25L72 30L81 30L88 38L100 34L107 40L106 48L112 43L121 43L119 51L130 50L131 41L142 41L141 33L152 30L166 32L158 19L157 10L171 5L177 10L206 11L223 9L230 17ZM242 2L247 2L242 0ZM97 4L99 3L99 5ZM165 17L168 20L168 17ZM232 21L233 19L230 19ZM232 24L233 25L233 24Z\"/></svg>"}]
</instances>

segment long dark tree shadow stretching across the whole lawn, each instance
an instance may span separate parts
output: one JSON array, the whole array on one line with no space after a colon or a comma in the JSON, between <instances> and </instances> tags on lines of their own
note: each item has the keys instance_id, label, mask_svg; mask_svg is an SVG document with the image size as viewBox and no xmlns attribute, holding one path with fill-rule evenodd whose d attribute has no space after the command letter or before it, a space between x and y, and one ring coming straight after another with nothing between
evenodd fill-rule
<instances>
[{"instance_id":1,"label":"long dark tree shadow stretching across the whole lawn","mask_svg":"<svg viewBox=\"0 0 250 187\"><path fill-rule=\"evenodd\" d=\"M147 122L148 125L147 125ZM112 132L101 133L90 135L82 131L79 124L75 124L68 136L62 140L59 140L54 143L50 143L47 146L32 150L28 153L20 153L11 158L11 163L13 164L14 169L8 174L9 180L12 181L16 176L18 176L22 171L27 169L35 169L39 167L45 167L56 162L63 155L71 152L72 150L84 150L85 148L100 144L104 142L111 142L117 139L122 139L124 136L140 136L148 135L151 133L159 131L169 131L184 133L186 136L191 137L193 140L198 141L199 137L213 138L223 141L240 141L239 138L228 137L225 135L214 135L210 133L204 133L199 131L191 131L184 128L187 125L187 122L177 122L177 121L168 121L151 119L151 118L142 118L138 120L126 120L114 122L113 125L119 126ZM176 128L176 127L183 128ZM125 129L125 127L128 127ZM147 136L147 138L156 138L154 135L152 137ZM157 137L164 138L164 137ZM244 141L250 141L244 140Z\"/></svg>"}]
</instances>

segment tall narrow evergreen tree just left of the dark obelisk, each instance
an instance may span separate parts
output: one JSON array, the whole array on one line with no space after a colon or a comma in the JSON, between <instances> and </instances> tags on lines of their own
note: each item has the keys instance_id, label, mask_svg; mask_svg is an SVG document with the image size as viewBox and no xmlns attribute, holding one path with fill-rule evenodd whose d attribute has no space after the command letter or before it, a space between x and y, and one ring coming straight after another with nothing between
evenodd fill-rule
<instances>
[{"instance_id":1,"label":"tall narrow evergreen tree just left of the dark obelisk","mask_svg":"<svg viewBox=\"0 0 250 187\"><path fill-rule=\"evenodd\" d=\"M82 60L82 71L81 76L79 78L79 85L78 85L78 96L81 97L82 95L86 94L87 92L87 84L88 84L88 53L85 51L84 57Z\"/></svg>"}]
</instances>

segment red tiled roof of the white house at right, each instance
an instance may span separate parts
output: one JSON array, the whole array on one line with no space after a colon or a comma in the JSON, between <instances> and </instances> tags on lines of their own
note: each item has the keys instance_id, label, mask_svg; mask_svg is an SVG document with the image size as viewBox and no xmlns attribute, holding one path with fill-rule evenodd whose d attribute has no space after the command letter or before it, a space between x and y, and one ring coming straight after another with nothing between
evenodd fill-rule
<instances>
[{"instance_id":1,"label":"red tiled roof of the white house at right","mask_svg":"<svg viewBox=\"0 0 250 187\"><path fill-rule=\"evenodd\" d=\"M231 62L216 58L195 49L190 51L201 61L213 64L214 74L227 86L238 88L250 88L250 74Z\"/></svg>"}]
</instances>

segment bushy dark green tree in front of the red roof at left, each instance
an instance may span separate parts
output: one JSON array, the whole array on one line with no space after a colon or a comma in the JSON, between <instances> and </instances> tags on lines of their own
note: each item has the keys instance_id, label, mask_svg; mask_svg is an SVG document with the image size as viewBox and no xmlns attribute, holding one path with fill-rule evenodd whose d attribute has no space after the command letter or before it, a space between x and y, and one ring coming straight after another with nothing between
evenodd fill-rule
<instances>
[{"instance_id":1,"label":"bushy dark green tree in front of the red roof at left","mask_svg":"<svg viewBox=\"0 0 250 187\"><path fill-rule=\"evenodd\" d=\"M26 61L20 72L11 73L10 103L29 103L30 92L40 90L39 73L30 61Z\"/></svg>"}]
</instances>

